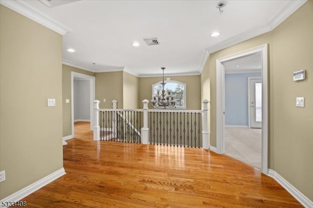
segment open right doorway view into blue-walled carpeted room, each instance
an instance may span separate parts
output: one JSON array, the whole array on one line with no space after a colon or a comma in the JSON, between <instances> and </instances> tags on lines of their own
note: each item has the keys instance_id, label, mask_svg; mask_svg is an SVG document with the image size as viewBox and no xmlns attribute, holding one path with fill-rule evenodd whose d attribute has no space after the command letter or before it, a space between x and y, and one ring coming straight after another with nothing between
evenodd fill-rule
<instances>
[{"instance_id":1,"label":"open right doorway view into blue-walled carpeted room","mask_svg":"<svg viewBox=\"0 0 313 208\"><path fill-rule=\"evenodd\" d=\"M261 60L257 53L223 63L225 154L258 169L262 167Z\"/></svg>"}]
</instances>

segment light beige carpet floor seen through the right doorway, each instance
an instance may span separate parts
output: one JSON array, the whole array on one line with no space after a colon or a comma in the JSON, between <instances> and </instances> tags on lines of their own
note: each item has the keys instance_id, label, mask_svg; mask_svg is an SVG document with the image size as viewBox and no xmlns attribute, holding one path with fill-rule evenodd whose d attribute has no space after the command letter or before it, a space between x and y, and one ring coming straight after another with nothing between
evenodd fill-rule
<instances>
[{"instance_id":1,"label":"light beige carpet floor seen through the right doorway","mask_svg":"<svg viewBox=\"0 0 313 208\"><path fill-rule=\"evenodd\" d=\"M262 129L225 127L225 154L261 169Z\"/></svg>"}]
</instances>

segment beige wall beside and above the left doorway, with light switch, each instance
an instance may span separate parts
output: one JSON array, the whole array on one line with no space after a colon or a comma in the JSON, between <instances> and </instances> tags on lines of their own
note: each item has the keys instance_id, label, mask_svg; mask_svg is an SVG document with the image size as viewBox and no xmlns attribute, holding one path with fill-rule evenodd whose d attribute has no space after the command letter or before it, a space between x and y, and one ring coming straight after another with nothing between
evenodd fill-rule
<instances>
[{"instance_id":1,"label":"beige wall beside and above the left doorway, with light switch","mask_svg":"<svg viewBox=\"0 0 313 208\"><path fill-rule=\"evenodd\" d=\"M63 106L63 137L66 137L68 135L71 135L72 133L72 126L71 126L71 115L70 115L70 105L71 103L65 103L66 99L70 100L70 77L71 72L77 72L81 74L87 74L90 76L95 76L93 72L86 71L83 69L75 68L72 66L68 66L65 64L62 64L62 106Z\"/></svg>"}]
</instances>

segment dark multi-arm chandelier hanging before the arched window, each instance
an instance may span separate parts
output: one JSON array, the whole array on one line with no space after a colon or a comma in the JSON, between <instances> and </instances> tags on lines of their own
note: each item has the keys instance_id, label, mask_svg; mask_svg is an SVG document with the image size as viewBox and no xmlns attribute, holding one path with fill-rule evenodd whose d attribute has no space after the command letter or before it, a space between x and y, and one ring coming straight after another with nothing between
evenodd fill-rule
<instances>
[{"instance_id":1,"label":"dark multi-arm chandelier hanging before the arched window","mask_svg":"<svg viewBox=\"0 0 313 208\"><path fill-rule=\"evenodd\" d=\"M176 99L173 94L171 94L171 89L164 89L166 83L164 83L164 69L165 67L161 67L163 71L163 82L162 84L162 91L160 94L160 89L156 89L156 95L153 96L152 108L176 108Z\"/></svg>"}]
</instances>

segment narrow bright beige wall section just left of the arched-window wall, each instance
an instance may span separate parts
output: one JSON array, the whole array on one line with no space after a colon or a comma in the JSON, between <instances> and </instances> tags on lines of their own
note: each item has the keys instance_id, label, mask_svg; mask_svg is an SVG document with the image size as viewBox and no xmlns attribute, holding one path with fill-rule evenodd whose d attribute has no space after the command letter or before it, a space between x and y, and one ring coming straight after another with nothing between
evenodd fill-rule
<instances>
[{"instance_id":1,"label":"narrow bright beige wall section just left of the arched-window wall","mask_svg":"<svg viewBox=\"0 0 313 208\"><path fill-rule=\"evenodd\" d=\"M123 108L137 109L139 93L139 78L123 72Z\"/></svg>"}]
</instances>

